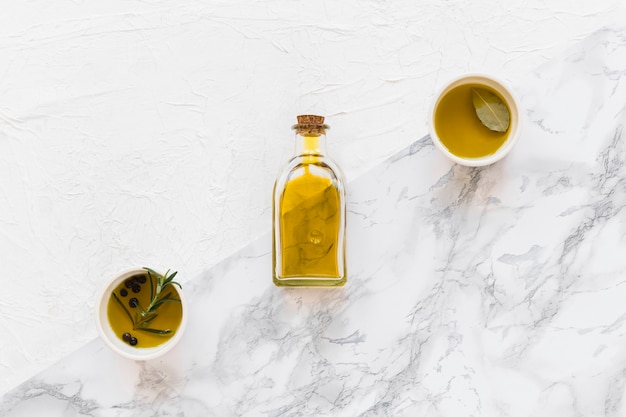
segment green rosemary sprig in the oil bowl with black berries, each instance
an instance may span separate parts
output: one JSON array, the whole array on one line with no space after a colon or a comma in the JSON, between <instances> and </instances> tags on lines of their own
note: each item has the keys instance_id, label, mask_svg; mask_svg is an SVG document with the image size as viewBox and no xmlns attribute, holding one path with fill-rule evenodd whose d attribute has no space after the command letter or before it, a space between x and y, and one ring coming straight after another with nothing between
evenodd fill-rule
<instances>
[{"instance_id":1,"label":"green rosemary sprig in the oil bowl with black berries","mask_svg":"<svg viewBox=\"0 0 626 417\"><path fill-rule=\"evenodd\" d=\"M172 333L171 329L153 329L148 326L154 319L157 318L157 310L161 305L167 302L180 303L180 299L172 297L172 291L168 291L165 295L161 296L163 291L167 289L167 287L169 287L170 285L177 285L179 288L182 289L182 286L178 282L174 281L174 277L178 272L174 272L169 275L170 271L168 269L165 274L161 275L150 268L144 267L143 269L146 270L146 272L148 273L148 281L150 282L150 304L148 304L147 308L143 308L140 303L137 303L137 310L135 311L135 314L133 316L130 311L128 311L122 300L120 300L117 294L115 294L115 292L112 293L112 296L126 312L126 315L133 324L133 330L141 330L144 332L160 335L170 334ZM156 288L154 287L154 283L152 282L153 277L154 281L156 281Z\"/></svg>"}]
</instances>

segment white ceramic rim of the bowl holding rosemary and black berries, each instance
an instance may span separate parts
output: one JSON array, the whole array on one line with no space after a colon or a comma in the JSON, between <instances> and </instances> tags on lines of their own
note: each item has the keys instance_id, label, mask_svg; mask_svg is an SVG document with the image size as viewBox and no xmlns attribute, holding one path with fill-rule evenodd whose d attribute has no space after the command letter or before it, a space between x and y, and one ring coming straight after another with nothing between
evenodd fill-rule
<instances>
[{"instance_id":1,"label":"white ceramic rim of the bowl holding rosemary and black berries","mask_svg":"<svg viewBox=\"0 0 626 417\"><path fill-rule=\"evenodd\" d=\"M133 268L117 274L102 288L98 295L98 301L96 303L96 327L98 329L98 334L100 335L102 340L104 340L104 343L106 343L107 346L109 346L115 353L136 361L156 359L164 355L178 343L187 325L188 310L185 294L180 288L176 287L176 291L178 292L178 295L180 297L182 307L182 320L180 325L178 326L178 329L176 330L176 333L165 343L156 347L138 348L131 346L128 343L125 343L113 332L113 329L111 328L107 317L107 306L109 300L111 299L112 291L126 279L135 275L141 275L145 273L146 270L143 268Z\"/></svg>"}]
</instances>

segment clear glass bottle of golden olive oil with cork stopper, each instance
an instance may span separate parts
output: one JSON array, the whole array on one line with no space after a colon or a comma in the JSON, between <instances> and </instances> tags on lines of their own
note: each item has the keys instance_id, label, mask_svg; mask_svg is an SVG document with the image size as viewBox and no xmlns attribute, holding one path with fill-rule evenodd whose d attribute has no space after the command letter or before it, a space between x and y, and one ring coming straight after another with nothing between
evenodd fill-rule
<instances>
[{"instance_id":1,"label":"clear glass bottle of golden olive oil with cork stopper","mask_svg":"<svg viewBox=\"0 0 626 417\"><path fill-rule=\"evenodd\" d=\"M346 196L339 167L326 156L324 117L298 116L295 156L274 184L272 267L280 287L346 282Z\"/></svg>"}]
</instances>

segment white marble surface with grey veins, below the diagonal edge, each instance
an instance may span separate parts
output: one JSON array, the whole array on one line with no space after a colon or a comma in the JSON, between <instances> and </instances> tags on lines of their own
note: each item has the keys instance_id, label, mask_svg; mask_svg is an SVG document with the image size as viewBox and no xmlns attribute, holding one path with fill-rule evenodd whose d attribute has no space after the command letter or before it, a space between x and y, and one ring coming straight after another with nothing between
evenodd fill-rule
<instances>
[{"instance_id":1,"label":"white marble surface with grey veins, below the diagonal edge","mask_svg":"<svg viewBox=\"0 0 626 417\"><path fill-rule=\"evenodd\" d=\"M453 165L424 137L349 183L349 282L279 289L270 238L186 283L163 360L94 340L0 414L623 416L626 28L514 85L518 146Z\"/></svg>"}]
</instances>

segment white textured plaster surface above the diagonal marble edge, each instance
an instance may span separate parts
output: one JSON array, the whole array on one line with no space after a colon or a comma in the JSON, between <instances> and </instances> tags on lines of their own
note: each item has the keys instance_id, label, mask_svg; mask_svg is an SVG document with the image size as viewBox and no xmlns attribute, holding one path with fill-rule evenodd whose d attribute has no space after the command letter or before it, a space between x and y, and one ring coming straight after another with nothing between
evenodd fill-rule
<instances>
[{"instance_id":1,"label":"white textured plaster surface above the diagonal marble edge","mask_svg":"<svg viewBox=\"0 0 626 417\"><path fill-rule=\"evenodd\" d=\"M96 336L112 274L184 282L268 231L296 114L328 117L350 180L427 133L447 79L514 82L625 21L623 0L12 2L0 393Z\"/></svg>"}]
</instances>

